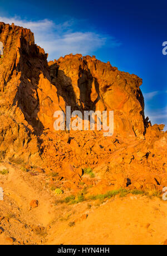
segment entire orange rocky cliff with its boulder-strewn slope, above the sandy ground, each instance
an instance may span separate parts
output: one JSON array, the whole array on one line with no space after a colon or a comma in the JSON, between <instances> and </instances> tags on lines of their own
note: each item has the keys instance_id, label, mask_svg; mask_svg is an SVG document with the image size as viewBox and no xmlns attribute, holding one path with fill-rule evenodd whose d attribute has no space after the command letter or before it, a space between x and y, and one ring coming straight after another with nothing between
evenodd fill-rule
<instances>
[{"instance_id":1,"label":"entire orange rocky cliff with its boulder-strewn slope, above the sandy ground","mask_svg":"<svg viewBox=\"0 0 167 256\"><path fill-rule=\"evenodd\" d=\"M0 23L1 159L56 172L54 186L98 189L166 185L167 134L144 116L141 78L95 56L67 55L47 63L33 33ZM114 135L53 129L53 113L114 110ZM97 177L83 176L91 167ZM143 172L144 170L144 172ZM63 182L66 181L66 182ZM148 185L149 184L149 185Z\"/></svg>"}]
</instances>

